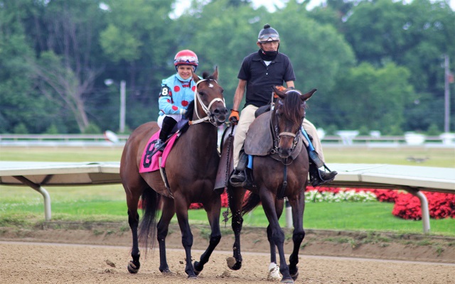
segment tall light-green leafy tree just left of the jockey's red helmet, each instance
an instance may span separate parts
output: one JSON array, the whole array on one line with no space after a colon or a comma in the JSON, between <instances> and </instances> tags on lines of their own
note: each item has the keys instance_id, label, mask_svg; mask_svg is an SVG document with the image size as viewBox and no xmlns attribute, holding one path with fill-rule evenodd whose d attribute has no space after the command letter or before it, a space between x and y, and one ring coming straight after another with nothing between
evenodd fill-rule
<instances>
[{"instance_id":1,"label":"tall light-green leafy tree just left of the jockey's red helmet","mask_svg":"<svg viewBox=\"0 0 455 284\"><path fill-rule=\"evenodd\" d=\"M156 120L161 80L175 71L171 60L182 34L169 18L172 1L105 3L107 27L100 35L100 44L108 68L118 70L111 72L110 78L127 81L127 125L135 128Z\"/></svg>"}]
</instances>

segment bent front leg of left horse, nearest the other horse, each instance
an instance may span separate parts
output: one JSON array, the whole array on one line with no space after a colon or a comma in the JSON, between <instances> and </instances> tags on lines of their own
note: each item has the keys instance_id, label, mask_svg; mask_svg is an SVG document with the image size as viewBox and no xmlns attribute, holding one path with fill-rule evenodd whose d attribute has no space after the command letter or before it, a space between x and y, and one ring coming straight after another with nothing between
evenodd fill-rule
<instances>
[{"instance_id":1,"label":"bent front leg of left horse, nearest the other horse","mask_svg":"<svg viewBox=\"0 0 455 284\"><path fill-rule=\"evenodd\" d=\"M216 199L215 199L216 198ZM216 246L220 243L221 239L221 231L220 231L220 210L221 210L221 200L220 197L217 195L210 198L211 202L203 203L204 209L207 212L208 222L210 223L210 228L212 229L212 233L210 234L210 241L208 243L208 248L204 251L204 253L200 256L199 261L195 261L193 264L194 273L199 275L200 271L203 270L204 264L208 262L208 259L213 253L213 250Z\"/></svg>"}]
</instances>

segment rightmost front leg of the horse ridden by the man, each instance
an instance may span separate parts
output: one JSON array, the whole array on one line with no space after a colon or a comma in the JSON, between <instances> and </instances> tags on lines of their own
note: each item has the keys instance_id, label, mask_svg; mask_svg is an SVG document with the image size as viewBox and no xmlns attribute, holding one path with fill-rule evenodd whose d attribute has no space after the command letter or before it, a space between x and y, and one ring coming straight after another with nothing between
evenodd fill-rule
<instances>
[{"instance_id":1,"label":"rightmost front leg of the horse ridden by the man","mask_svg":"<svg viewBox=\"0 0 455 284\"><path fill-rule=\"evenodd\" d=\"M304 241L304 209L305 209L305 192L302 190L299 194L299 200L289 202L292 207L292 222L294 223L294 232L292 233L292 241L294 242L294 249L292 249L291 256L289 256L289 273L291 278L296 280L299 276L299 249L301 242Z\"/></svg>"}]
</instances>

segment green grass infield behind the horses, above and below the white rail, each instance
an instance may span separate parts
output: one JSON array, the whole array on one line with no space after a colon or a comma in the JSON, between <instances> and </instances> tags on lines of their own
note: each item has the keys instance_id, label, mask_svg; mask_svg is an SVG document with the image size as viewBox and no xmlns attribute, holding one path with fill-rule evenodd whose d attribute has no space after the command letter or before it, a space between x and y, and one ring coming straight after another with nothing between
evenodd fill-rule
<instances>
[{"instance_id":1,"label":"green grass infield behind the horses, above and below the white rail","mask_svg":"<svg viewBox=\"0 0 455 284\"><path fill-rule=\"evenodd\" d=\"M100 162L119 161L121 148L1 148L0 160ZM453 149L351 149L327 148L331 163L389 163L407 165L406 157L427 156L419 165L455 167ZM438 162L439 161L439 162ZM430 162L432 164L430 164ZM450 162L450 163L448 163ZM434 164L433 164L434 163ZM415 164L414 164L415 165ZM127 204L122 185L45 187L49 192L53 221L127 223ZM34 226L44 222L43 197L29 187L0 186L0 226ZM385 202L343 202L306 204L304 227L348 231L392 231L422 234L422 221L404 220L392 215L393 204ZM222 209L222 212L225 208ZM208 224L203 209L191 210L192 224ZM223 217L221 217L223 219ZM244 217L245 226L267 226L258 207ZM172 220L177 224L176 217ZM280 220L285 226L284 215ZM221 223L224 226L224 223ZM230 221L227 224L230 229ZM432 234L455 236L455 219L431 219Z\"/></svg>"}]
</instances>

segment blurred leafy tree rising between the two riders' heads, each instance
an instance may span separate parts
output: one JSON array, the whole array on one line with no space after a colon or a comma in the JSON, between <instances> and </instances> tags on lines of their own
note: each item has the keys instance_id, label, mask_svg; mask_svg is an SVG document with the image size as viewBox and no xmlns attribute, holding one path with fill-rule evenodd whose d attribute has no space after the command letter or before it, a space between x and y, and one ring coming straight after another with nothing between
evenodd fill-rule
<instances>
[{"instance_id":1,"label":"blurred leafy tree rising between the two riders' heads","mask_svg":"<svg viewBox=\"0 0 455 284\"><path fill-rule=\"evenodd\" d=\"M243 58L257 51L257 33L269 13L250 5L232 5L232 1L217 0L193 8L178 18L185 38L178 49L190 48L199 58L198 73L213 71L218 66L219 82L225 89L226 104L232 106L237 74Z\"/></svg>"}]
</instances>

